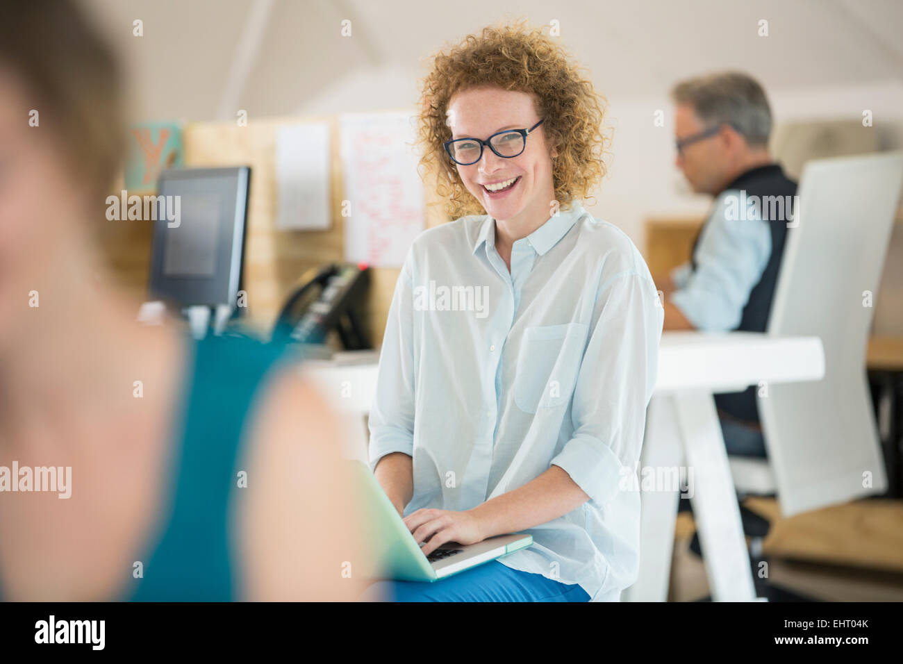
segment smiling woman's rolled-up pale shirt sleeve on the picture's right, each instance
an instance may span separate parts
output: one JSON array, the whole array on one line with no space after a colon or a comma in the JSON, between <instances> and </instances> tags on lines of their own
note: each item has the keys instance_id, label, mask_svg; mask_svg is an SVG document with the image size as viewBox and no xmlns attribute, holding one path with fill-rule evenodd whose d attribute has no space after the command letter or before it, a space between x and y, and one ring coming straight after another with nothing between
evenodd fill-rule
<instances>
[{"instance_id":1,"label":"smiling woman's rolled-up pale shirt sleeve on the picture's right","mask_svg":"<svg viewBox=\"0 0 903 664\"><path fill-rule=\"evenodd\" d=\"M664 310L648 270L637 269L600 285L597 311L573 392L573 436L552 463L604 505L639 462Z\"/></svg>"}]
</instances>

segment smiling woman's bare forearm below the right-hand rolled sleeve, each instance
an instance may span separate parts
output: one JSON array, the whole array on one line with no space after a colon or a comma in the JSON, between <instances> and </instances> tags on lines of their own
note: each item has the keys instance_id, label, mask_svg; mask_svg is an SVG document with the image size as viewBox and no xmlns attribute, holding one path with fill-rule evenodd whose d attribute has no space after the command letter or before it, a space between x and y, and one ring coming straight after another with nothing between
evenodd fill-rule
<instances>
[{"instance_id":1,"label":"smiling woman's bare forearm below the right-hand rolled sleeve","mask_svg":"<svg viewBox=\"0 0 903 664\"><path fill-rule=\"evenodd\" d=\"M535 480L487 500L470 512L479 519L483 536L533 528L576 510L590 497L563 468L553 465Z\"/></svg>"}]
</instances>

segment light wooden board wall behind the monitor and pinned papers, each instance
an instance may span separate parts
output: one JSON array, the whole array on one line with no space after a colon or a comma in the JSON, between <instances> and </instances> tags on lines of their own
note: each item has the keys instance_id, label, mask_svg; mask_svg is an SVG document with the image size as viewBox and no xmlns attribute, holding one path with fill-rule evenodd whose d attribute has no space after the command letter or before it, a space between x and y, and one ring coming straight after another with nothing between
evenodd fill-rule
<instances>
[{"instance_id":1,"label":"light wooden board wall behind the monitor and pinned papers","mask_svg":"<svg viewBox=\"0 0 903 664\"><path fill-rule=\"evenodd\" d=\"M277 230L276 127L314 121L328 122L332 130L332 226L329 230ZM340 210L341 201L349 196L342 185L338 118L275 117L252 120L247 126L237 126L235 122L190 123L183 127L182 140L185 164L188 166L251 167L244 285L248 299L248 322L259 331L268 332L276 313L301 276L312 269L344 259L345 228ZM433 187L427 186L425 191L425 225L436 226L446 221L447 217L442 214L442 206L432 193ZM105 220L98 229L100 245L116 272L116 278L144 298L150 265L152 223ZM377 347L382 341L398 271L398 268L375 268L370 271L366 317Z\"/></svg>"}]
</instances>

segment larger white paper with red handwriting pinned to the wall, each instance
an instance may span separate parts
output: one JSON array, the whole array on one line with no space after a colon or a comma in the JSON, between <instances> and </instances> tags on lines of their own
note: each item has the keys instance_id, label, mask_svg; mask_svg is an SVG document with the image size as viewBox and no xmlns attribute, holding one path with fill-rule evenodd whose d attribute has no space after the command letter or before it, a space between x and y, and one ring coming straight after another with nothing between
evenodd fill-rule
<instances>
[{"instance_id":1,"label":"larger white paper with red handwriting pinned to the wall","mask_svg":"<svg viewBox=\"0 0 903 664\"><path fill-rule=\"evenodd\" d=\"M401 267L424 229L424 184L417 174L413 117L413 113L340 117L349 262Z\"/></svg>"}]
</instances>

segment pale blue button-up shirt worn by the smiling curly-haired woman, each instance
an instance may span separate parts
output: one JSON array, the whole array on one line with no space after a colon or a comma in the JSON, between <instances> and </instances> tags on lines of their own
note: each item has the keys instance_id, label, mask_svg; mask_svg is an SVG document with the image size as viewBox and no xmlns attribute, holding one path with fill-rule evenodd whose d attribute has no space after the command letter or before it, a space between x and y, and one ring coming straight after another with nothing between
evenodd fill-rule
<instances>
[{"instance_id":1,"label":"pale blue button-up shirt worn by the smiling curly-haired woman","mask_svg":"<svg viewBox=\"0 0 903 664\"><path fill-rule=\"evenodd\" d=\"M398 276L370 467L413 457L421 508L470 510L557 465L590 496L530 528L508 567L617 601L638 574L637 471L664 310L627 235L577 201L511 249L496 222L424 231Z\"/></svg>"}]
</instances>

